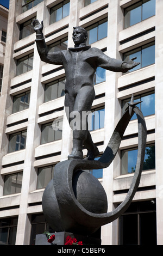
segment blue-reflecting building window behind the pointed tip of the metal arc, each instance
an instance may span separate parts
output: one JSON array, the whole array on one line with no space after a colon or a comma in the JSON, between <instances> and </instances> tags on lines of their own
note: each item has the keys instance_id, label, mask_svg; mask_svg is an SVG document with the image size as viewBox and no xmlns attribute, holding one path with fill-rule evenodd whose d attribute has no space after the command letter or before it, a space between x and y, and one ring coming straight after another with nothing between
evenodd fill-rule
<instances>
[{"instance_id":1,"label":"blue-reflecting building window behind the pointed tip of the metal arc","mask_svg":"<svg viewBox=\"0 0 163 256\"><path fill-rule=\"evenodd\" d=\"M143 116L147 117L148 115L153 115L155 113L155 94L154 91L150 93L143 93L139 96L134 97L134 102L142 101L141 103L137 104L136 106L142 111ZM128 107L128 103L130 99L122 101L122 114L124 113L125 109ZM136 119L136 114L133 115L131 120Z\"/></svg>"}]
</instances>

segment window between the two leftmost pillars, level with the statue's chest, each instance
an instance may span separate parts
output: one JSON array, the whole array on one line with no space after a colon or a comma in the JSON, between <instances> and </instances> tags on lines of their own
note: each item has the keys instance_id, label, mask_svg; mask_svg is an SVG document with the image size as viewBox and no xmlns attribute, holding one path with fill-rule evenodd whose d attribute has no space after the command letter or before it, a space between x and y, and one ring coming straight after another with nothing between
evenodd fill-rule
<instances>
[{"instance_id":1,"label":"window between the two leftmost pillars, level with the statue's chest","mask_svg":"<svg viewBox=\"0 0 163 256\"><path fill-rule=\"evenodd\" d=\"M33 53L17 60L16 76L26 73L33 69Z\"/></svg>"}]
</instances>

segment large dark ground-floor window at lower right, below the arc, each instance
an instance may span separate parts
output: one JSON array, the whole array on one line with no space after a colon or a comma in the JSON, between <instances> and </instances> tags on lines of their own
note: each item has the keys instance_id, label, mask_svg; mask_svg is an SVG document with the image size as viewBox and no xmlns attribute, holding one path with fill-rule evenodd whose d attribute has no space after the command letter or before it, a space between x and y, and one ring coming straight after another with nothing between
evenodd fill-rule
<instances>
[{"instance_id":1,"label":"large dark ground-floor window at lower right, below the arc","mask_svg":"<svg viewBox=\"0 0 163 256\"><path fill-rule=\"evenodd\" d=\"M156 245L156 205L153 202L131 203L121 215L119 245Z\"/></svg>"}]
</instances>

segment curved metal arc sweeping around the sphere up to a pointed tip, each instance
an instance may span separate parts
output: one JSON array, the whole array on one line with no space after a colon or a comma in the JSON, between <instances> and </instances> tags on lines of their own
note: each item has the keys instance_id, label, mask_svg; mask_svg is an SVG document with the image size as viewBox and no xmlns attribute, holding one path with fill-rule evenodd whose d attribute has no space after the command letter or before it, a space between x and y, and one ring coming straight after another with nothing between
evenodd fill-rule
<instances>
[{"instance_id":1,"label":"curved metal arc sweeping around the sphere up to a pointed tip","mask_svg":"<svg viewBox=\"0 0 163 256\"><path fill-rule=\"evenodd\" d=\"M105 214L93 214L92 212L87 211L76 199L73 192L72 187L72 178L73 172L77 169L98 169L98 168L106 168L109 164L114 160L114 157L117 153L119 145L121 143L124 131L130 121L129 110L127 110L121 120L118 122L116 129L114 130L111 139L108 143L108 147L106 147L102 157L98 161L85 161L85 160L68 160L61 162L60 164L64 164L65 168L62 168L61 172L55 172L54 178L54 187L55 193L58 198L58 202L61 202L60 206L62 207L62 198L66 199L67 204L64 205L66 207L66 211L70 214L79 224L85 225L86 227L101 227L104 224L110 223L116 220L126 209L128 208L131 200L133 199L137 187L139 186L143 160L145 156L145 147L146 147L146 124L145 119L139 108L133 108L133 114L136 113L138 120L138 154L137 154L137 162L136 162L136 170L134 173L133 181L131 182L129 192L127 193L126 198L123 202L113 211L106 212ZM117 143L115 143L115 139ZM66 178L66 181L65 181ZM60 180L60 181L58 181ZM61 181L62 180L62 181ZM62 182L66 182L66 190L60 186L60 184L64 184ZM71 207L70 207L71 205Z\"/></svg>"}]
</instances>

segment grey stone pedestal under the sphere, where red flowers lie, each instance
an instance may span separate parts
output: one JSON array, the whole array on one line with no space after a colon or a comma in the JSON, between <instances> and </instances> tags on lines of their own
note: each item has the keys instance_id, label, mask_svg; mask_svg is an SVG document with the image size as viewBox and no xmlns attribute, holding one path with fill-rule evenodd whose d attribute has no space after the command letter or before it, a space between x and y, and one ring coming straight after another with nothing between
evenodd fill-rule
<instances>
[{"instance_id":1,"label":"grey stone pedestal under the sphere, where red flowers lie","mask_svg":"<svg viewBox=\"0 0 163 256\"><path fill-rule=\"evenodd\" d=\"M35 245L65 245L66 237L69 235L72 238L76 238L77 241L82 241L83 245L91 246L101 246L101 239L97 239L95 237L90 236L84 236L84 235L77 235L73 233L68 232L57 232L57 233L51 233L51 235L55 235L55 240L52 243L49 243L47 241L47 236L45 234L36 235L36 242Z\"/></svg>"}]
</instances>

